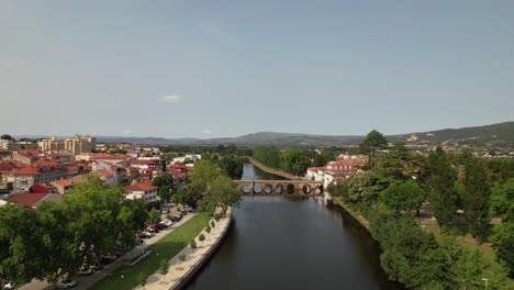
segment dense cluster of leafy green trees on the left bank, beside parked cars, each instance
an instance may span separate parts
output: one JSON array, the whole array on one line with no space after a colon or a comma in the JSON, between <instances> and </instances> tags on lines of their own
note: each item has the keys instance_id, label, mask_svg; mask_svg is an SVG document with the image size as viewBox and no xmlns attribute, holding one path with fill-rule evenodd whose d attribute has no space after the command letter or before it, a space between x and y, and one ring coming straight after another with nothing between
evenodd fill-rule
<instances>
[{"instance_id":1,"label":"dense cluster of leafy green trees on the left bank, beside parked cars","mask_svg":"<svg viewBox=\"0 0 514 290\"><path fill-rule=\"evenodd\" d=\"M43 202L36 210L18 204L0 208L1 285L32 279L55 281L83 264L125 253L148 221L144 200L125 200L121 187L107 188L91 177L60 203Z\"/></svg>"}]
</instances>

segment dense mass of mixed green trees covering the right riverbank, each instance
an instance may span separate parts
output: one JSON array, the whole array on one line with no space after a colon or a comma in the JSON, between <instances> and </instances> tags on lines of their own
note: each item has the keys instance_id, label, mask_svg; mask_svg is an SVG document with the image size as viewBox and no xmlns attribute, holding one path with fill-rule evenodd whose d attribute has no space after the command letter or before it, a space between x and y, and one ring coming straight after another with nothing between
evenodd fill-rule
<instances>
[{"instance_id":1,"label":"dense mass of mixed green trees covering the right riverbank","mask_svg":"<svg viewBox=\"0 0 514 290\"><path fill-rule=\"evenodd\" d=\"M361 148L370 170L328 190L368 217L390 278L412 289L483 289L483 278L488 289L501 289L506 271L514 272L513 161L484 161L442 147L424 157L404 143L389 146L376 131ZM443 231L439 241L416 222L424 203ZM491 225L494 215L500 225ZM492 242L505 267L492 270L480 252L458 246L451 236L462 231L479 243Z\"/></svg>"}]
</instances>

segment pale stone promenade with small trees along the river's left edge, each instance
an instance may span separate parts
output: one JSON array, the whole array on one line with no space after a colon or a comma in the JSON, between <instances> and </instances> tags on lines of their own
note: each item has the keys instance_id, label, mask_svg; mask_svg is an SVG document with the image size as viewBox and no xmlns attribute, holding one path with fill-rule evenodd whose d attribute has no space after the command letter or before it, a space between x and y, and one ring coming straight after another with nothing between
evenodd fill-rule
<instances>
[{"instance_id":1,"label":"pale stone promenade with small trees along the river's left edge","mask_svg":"<svg viewBox=\"0 0 514 290\"><path fill-rule=\"evenodd\" d=\"M211 219L209 224L214 221ZM160 275L159 271L154 272L148 277L145 287L137 286L136 290L177 290L182 288L189 279L203 266L209 257L215 252L217 246L226 235L232 221L232 208L226 212L226 216L215 222L215 226L211 228L211 233L204 230L200 233L205 236L205 241L200 242L199 236L194 238L197 248L191 248L189 245L180 250L168 263L170 265L169 271L166 276ZM186 259L180 260L180 256L185 255Z\"/></svg>"}]
</instances>

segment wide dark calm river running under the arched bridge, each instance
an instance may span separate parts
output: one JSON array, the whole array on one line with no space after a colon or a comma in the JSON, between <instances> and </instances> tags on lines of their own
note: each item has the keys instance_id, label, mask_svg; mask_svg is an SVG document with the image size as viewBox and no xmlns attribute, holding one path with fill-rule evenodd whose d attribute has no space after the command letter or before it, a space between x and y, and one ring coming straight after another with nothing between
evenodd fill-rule
<instances>
[{"instance_id":1,"label":"wide dark calm river running under the arched bridge","mask_svg":"<svg viewBox=\"0 0 514 290\"><path fill-rule=\"evenodd\" d=\"M243 179L277 179L245 165ZM185 287L198 289L403 289L380 249L338 207L315 198L245 197L212 258Z\"/></svg>"}]
</instances>

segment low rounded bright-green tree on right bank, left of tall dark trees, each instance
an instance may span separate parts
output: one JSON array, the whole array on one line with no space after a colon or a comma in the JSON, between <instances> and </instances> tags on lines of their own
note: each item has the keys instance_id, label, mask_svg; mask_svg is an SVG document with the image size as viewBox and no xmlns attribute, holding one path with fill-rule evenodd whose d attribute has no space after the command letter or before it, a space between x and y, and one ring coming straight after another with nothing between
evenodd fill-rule
<instances>
[{"instance_id":1,"label":"low rounded bright-green tree on right bank, left of tall dark trees","mask_svg":"<svg viewBox=\"0 0 514 290\"><path fill-rule=\"evenodd\" d=\"M380 194L379 202L395 212L409 213L421 208L424 201L423 196L420 186L412 180L407 180L392 183Z\"/></svg>"}]
</instances>

